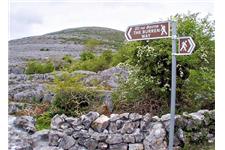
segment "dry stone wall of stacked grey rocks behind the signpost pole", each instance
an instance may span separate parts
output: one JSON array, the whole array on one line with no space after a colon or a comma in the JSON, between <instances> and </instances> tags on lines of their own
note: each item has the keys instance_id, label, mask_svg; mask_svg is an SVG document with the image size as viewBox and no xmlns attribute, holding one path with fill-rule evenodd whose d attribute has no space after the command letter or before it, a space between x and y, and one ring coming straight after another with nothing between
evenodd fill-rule
<instances>
[{"instance_id":1,"label":"dry stone wall of stacked grey rocks behind the signpost pole","mask_svg":"<svg viewBox=\"0 0 225 150\"><path fill-rule=\"evenodd\" d=\"M215 111L176 115L176 149L185 144L214 142ZM89 112L79 118L56 115L49 131L49 146L68 150L166 150L170 115Z\"/></svg>"}]
</instances>

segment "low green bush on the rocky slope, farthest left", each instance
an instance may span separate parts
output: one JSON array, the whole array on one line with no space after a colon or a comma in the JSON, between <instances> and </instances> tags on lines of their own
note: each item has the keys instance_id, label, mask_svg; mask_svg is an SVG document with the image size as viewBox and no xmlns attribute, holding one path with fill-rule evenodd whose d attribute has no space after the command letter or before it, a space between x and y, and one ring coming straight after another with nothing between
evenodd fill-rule
<instances>
[{"instance_id":1,"label":"low green bush on the rocky slope, farthest left","mask_svg":"<svg viewBox=\"0 0 225 150\"><path fill-rule=\"evenodd\" d=\"M38 62L38 61L29 61L26 65L26 74L35 74L35 73L50 73L54 71L54 64L51 61L47 62Z\"/></svg>"}]
</instances>

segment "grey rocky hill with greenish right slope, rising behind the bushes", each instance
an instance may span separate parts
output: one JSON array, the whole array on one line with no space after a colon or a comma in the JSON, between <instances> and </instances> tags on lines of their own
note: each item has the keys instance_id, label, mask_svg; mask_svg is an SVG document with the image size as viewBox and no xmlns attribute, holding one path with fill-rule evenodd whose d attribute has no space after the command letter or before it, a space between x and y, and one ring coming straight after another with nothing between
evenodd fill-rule
<instances>
[{"instance_id":1,"label":"grey rocky hill with greenish right slope, rising behind the bushes","mask_svg":"<svg viewBox=\"0 0 225 150\"><path fill-rule=\"evenodd\" d=\"M96 53L116 48L124 41L122 31L102 27L65 29L40 36L25 37L9 41L9 65L23 64L29 59L62 58L64 55L79 57L88 45L88 40L99 43Z\"/></svg>"}]
</instances>

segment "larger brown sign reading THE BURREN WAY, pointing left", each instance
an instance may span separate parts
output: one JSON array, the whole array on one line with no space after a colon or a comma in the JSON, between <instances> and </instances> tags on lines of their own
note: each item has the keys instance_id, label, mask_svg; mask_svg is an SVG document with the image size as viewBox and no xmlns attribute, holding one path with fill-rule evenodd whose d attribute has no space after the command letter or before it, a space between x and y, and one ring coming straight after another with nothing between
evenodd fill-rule
<instances>
[{"instance_id":1,"label":"larger brown sign reading THE BURREN WAY, pointing left","mask_svg":"<svg viewBox=\"0 0 225 150\"><path fill-rule=\"evenodd\" d=\"M129 26L125 32L128 41L167 38L169 36L169 21Z\"/></svg>"}]
</instances>

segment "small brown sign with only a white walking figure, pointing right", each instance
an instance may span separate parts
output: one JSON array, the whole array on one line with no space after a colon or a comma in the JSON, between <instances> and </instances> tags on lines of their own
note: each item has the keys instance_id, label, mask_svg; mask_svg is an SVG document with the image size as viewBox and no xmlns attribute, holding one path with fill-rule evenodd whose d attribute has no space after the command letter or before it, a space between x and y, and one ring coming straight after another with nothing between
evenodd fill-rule
<instances>
[{"instance_id":1,"label":"small brown sign with only a white walking figure, pointing right","mask_svg":"<svg viewBox=\"0 0 225 150\"><path fill-rule=\"evenodd\" d=\"M190 36L179 37L179 54L190 55L195 48L195 43Z\"/></svg>"}]
</instances>

